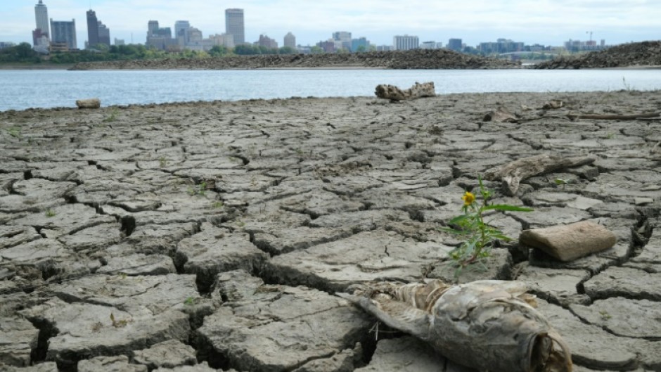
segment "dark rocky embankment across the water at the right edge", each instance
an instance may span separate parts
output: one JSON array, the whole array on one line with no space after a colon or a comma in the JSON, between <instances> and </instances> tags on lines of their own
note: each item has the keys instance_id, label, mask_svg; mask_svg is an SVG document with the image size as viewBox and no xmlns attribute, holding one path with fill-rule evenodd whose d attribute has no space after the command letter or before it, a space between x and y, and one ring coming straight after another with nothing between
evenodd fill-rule
<instances>
[{"instance_id":1,"label":"dark rocky embankment across the water at the right edge","mask_svg":"<svg viewBox=\"0 0 661 372\"><path fill-rule=\"evenodd\" d=\"M626 68L661 66L661 41L622 44L578 57L559 57L538 63L538 69Z\"/></svg>"}]
</instances>

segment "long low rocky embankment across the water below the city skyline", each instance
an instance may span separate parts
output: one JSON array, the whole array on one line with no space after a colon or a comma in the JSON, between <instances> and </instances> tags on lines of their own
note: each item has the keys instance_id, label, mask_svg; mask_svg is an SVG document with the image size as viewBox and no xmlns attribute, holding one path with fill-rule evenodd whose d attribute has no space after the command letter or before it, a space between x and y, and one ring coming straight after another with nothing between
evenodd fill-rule
<instances>
[{"instance_id":1,"label":"long low rocky embankment across the water below the city skyline","mask_svg":"<svg viewBox=\"0 0 661 372\"><path fill-rule=\"evenodd\" d=\"M486 69L519 67L520 63L518 62L470 56L446 49L437 49L82 62L77 63L70 70L250 70L256 68Z\"/></svg>"}]
</instances>

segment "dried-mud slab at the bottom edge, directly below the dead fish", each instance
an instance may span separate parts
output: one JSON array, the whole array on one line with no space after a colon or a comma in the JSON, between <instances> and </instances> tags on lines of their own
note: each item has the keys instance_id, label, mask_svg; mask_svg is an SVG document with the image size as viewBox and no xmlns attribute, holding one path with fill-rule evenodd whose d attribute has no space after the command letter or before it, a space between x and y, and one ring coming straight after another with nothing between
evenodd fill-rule
<instances>
[{"instance_id":1,"label":"dried-mud slab at the bottom edge, directly below the dead fish","mask_svg":"<svg viewBox=\"0 0 661 372\"><path fill-rule=\"evenodd\" d=\"M445 372L447 359L411 336L380 340L370 363L356 372ZM466 372L470 371L466 368Z\"/></svg>"}]
</instances>

